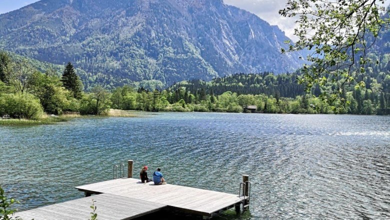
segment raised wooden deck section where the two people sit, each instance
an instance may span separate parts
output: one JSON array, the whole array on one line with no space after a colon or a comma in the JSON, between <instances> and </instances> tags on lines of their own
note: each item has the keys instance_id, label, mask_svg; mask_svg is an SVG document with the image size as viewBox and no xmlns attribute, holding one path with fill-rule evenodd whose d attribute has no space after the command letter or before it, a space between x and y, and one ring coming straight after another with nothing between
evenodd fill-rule
<instances>
[{"instance_id":1,"label":"raised wooden deck section where the two people sit","mask_svg":"<svg viewBox=\"0 0 390 220\"><path fill-rule=\"evenodd\" d=\"M180 185L146 184L134 178L119 178L75 187L89 193L108 193L160 203L204 216L241 202L238 195Z\"/></svg>"}]
</instances>

